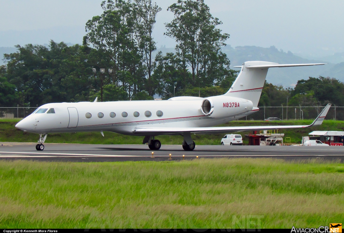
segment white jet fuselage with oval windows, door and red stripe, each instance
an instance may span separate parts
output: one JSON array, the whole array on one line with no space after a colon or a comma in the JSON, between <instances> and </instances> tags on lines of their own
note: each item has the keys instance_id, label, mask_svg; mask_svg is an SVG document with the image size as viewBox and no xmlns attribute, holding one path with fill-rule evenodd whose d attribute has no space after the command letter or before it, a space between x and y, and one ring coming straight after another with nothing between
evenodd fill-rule
<instances>
[{"instance_id":1,"label":"white jet fuselage with oval windows, door and red stripe","mask_svg":"<svg viewBox=\"0 0 344 233\"><path fill-rule=\"evenodd\" d=\"M214 113L221 109L223 116L206 116L201 110L203 100L49 103L39 107L47 109L44 113L34 112L16 127L34 133L111 131L134 135L132 129L138 126L215 126L252 110L251 101L231 97L228 103L226 97L214 106ZM49 113L51 108L55 113Z\"/></svg>"}]
</instances>

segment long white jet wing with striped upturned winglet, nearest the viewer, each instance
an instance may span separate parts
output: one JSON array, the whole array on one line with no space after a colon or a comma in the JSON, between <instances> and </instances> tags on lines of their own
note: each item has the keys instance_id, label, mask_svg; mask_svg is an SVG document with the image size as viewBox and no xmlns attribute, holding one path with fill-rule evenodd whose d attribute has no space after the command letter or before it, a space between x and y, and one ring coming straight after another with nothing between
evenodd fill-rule
<instances>
[{"instance_id":1,"label":"long white jet wing with striped upturned winglet, nearest the viewer","mask_svg":"<svg viewBox=\"0 0 344 233\"><path fill-rule=\"evenodd\" d=\"M211 134L211 133L225 133L225 132L238 132L248 130L268 130L268 129L294 129L306 128L311 126L319 126L322 124L331 104L327 104L318 117L310 125L277 125L277 126L231 126L231 127L137 127L132 130L136 134L149 134L152 135L178 135L183 133L198 133L198 134Z\"/></svg>"}]
</instances>

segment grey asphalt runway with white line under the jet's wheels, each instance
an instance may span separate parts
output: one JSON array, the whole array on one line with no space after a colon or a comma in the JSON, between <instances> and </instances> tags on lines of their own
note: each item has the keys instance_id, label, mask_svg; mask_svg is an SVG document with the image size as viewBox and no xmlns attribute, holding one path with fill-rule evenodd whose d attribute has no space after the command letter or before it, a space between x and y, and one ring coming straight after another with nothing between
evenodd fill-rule
<instances>
[{"instance_id":1,"label":"grey asphalt runway with white line under the jet's wheels","mask_svg":"<svg viewBox=\"0 0 344 233\"><path fill-rule=\"evenodd\" d=\"M43 151L35 149L36 143L0 142L1 160L38 160L70 162L106 161L170 161L198 158L276 158L283 160L307 160L320 158L344 162L344 147L303 147L303 146L226 146L196 145L193 151L184 151L181 145L161 145L152 151L148 145L103 145L45 143Z\"/></svg>"}]
</instances>

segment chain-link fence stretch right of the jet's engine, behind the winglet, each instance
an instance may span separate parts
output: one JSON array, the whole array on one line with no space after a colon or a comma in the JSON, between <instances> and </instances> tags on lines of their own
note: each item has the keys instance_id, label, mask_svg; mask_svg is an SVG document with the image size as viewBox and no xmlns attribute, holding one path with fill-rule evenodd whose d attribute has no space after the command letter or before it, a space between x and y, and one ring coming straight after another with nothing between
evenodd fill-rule
<instances>
[{"instance_id":1,"label":"chain-link fence stretch right of the jet's engine, behind the winglet","mask_svg":"<svg viewBox=\"0 0 344 233\"><path fill-rule=\"evenodd\" d=\"M247 120L264 120L268 117L277 117L281 120L315 119L325 106L278 106L259 107L259 111L249 115ZM331 106L326 119L344 120L344 107Z\"/></svg>"}]
</instances>

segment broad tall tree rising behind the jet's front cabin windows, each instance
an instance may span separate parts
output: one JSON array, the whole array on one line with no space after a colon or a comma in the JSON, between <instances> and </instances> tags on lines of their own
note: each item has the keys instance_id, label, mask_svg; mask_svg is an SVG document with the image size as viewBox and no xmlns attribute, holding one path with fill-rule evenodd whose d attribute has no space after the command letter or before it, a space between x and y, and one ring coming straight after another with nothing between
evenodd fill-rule
<instances>
[{"instance_id":1,"label":"broad tall tree rising behind the jet's front cabin windows","mask_svg":"<svg viewBox=\"0 0 344 233\"><path fill-rule=\"evenodd\" d=\"M155 49L151 32L159 11L151 1L138 0L137 4L103 1L103 14L86 23L87 40L104 53L105 66L114 69L113 83L121 84L128 91L128 100L147 89L146 74L150 81L151 52Z\"/></svg>"}]
</instances>

